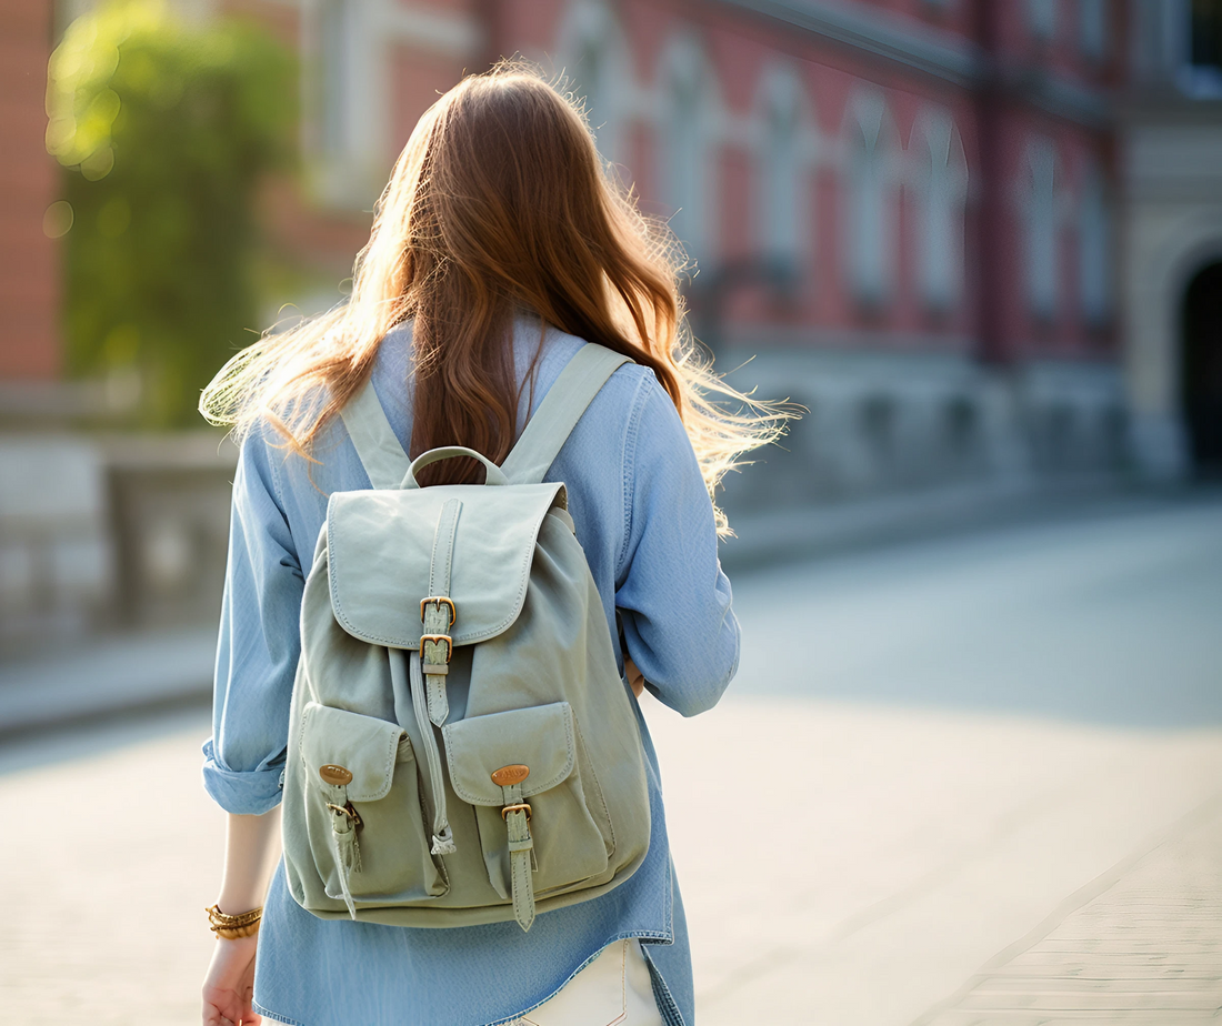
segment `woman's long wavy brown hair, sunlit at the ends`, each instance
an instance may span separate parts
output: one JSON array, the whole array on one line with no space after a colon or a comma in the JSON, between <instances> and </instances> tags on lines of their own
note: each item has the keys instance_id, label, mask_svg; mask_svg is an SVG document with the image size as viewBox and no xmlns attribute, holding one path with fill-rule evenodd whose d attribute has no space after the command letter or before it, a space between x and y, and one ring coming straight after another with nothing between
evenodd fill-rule
<instances>
[{"instance_id":1,"label":"woman's long wavy brown hair, sunlit at the ends","mask_svg":"<svg viewBox=\"0 0 1222 1026\"><path fill-rule=\"evenodd\" d=\"M417 123L348 302L238 353L199 408L240 435L269 419L310 458L320 429L368 379L382 337L411 318L411 454L462 445L500 463L519 401L512 325L529 310L654 371L712 496L787 414L712 374L686 326L683 270L666 226L604 170L578 104L533 68L502 64L464 78ZM448 480L474 475L453 463ZM728 533L720 511L717 524Z\"/></svg>"}]
</instances>

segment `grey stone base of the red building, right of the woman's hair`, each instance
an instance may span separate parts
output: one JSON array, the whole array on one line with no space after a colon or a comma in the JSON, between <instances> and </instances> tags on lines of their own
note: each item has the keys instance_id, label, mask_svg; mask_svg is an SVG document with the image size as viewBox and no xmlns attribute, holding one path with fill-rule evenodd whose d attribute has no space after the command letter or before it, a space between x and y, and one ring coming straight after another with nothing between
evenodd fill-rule
<instances>
[{"instance_id":1,"label":"grey stone base of the red building, right of the woman's hair","mask_svg":"<svg viewBox=\"0 0 1222 1026\"><path fill-rule=\"evenodd\" d=\"M719 364L747 355L731 349ZM1111 363L993 369L957 354L791 349L760 353L730 380L809 409L758 465L726 479L726 506L739 514L970 482L1035 486L1129 462Z\"/></svg>"}]
</instances>

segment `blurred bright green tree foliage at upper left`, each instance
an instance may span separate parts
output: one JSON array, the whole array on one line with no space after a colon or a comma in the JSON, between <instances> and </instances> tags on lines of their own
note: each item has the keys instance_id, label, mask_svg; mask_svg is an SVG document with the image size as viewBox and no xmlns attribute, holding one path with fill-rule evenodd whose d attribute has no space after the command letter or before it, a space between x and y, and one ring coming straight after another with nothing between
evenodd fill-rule
<instances>
[{"instance_id":1,"label":"blurred bright green tree foliage at upper left","mask_svg":"<svg viewBox=\"0 0 1222 1026\"><path fill-rule=\"evenodd\" d=\"M77 18L51 56L48 150L73 213L64 335L78 376L139 375L148 426L258 326L255 197L295 153L292 56L264 31L152 0Z\"/></svg>"}]
</instances>

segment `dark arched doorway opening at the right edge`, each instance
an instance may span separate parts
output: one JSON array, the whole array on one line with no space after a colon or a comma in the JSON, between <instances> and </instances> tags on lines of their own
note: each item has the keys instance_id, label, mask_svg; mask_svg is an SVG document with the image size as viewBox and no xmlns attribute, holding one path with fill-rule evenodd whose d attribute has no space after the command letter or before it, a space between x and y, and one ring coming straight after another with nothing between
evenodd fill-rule
<instances>
[{"instance_id":1,"label":"dark arched doorway opening at the right edge","mask_svg":"<svg viewBox=\"0 0 1222 1026\"><path fill-rule=\"evenodd\" d=\"M1222 474L1222 260L1188 283L1182 335L1180 398L1193 464Z\"/></svg>"}]
</instances>

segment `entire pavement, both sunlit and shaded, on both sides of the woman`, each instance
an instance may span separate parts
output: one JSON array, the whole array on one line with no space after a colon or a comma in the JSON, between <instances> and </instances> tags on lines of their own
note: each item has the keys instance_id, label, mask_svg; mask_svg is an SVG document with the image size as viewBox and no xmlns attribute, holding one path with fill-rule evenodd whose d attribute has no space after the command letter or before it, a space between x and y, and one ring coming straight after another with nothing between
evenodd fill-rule
<instances>
[{"instance_id":1,"label":"entire pavement, both sunlit and shaded, on both sides of the woman","mask_svg":"<svg viewBox=\"0 0 1222 1026\"><path fill-rule=\"evenodd\" d=\"M701 1026L1218 1021L1217 507L783 568L736 606L725 702L646 704ZM207 729L0 748L13 1021L198 1021Z\"/></svg>"}]
</instances>

